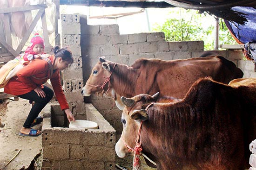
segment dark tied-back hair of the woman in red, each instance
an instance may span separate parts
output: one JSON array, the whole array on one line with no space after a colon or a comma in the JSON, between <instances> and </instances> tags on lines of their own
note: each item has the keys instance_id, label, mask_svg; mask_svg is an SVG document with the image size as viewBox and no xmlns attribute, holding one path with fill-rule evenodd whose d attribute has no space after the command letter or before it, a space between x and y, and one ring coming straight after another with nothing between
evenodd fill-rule
<instances>
[{"instance_id":1,"label":"dark tied-back hair of the woman in red","mask_svg":"<svg viewBox=\"0 0 256 170\"><path fill-rule=\"evenodd\" d=\"M58 45L54 47L54 56L61 57L63 61L67 61L68 63L73 63L74 58L72 57L72 52L67 48L63 47L60 49Z\"/></svg>"}]
</instances>

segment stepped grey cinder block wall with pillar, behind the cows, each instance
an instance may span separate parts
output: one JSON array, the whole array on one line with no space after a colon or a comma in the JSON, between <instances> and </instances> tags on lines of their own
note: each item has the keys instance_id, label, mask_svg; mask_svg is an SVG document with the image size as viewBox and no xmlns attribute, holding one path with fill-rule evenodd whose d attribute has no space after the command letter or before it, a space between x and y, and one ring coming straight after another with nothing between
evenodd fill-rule
<instances>
[{"instance_id":1,"label":"stepped grey cinder block wall with pillar, behind the cows","mask_svg":"<svg viewBox=\"0 0 256 170\"><path fill-rule=\"evenodd\" d=\"M75 57L74 64L63 72L67 100L71 101L74 110L79 110L83 100L92 103L117 134L121 134L122 126L121 111L115 103L110 98L96 95L83 99L80 94L98 57L105 56L110 61L131 65L141 57L174 60L199 57L205 52L203 41L166 42L162 32L120 35L118 25L87 25L87 16L79 14L62 14L61 19L62 44L71 47ZM254 64L243 60L241 50L213 52L236 63L243 70L244 77L256 77Z\"/></svg>"}]
</instances>

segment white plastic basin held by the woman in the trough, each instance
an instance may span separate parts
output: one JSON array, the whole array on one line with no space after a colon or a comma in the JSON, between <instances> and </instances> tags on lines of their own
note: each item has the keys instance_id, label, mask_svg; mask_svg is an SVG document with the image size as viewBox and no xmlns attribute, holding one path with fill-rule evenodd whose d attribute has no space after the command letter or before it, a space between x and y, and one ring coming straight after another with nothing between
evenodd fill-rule
<instances>
[{"instance_id":1,"label":"white plastic basin held by the woman in the trough","mask_svg":"<svg viewBox=\"0 0 256 170\"><path fill-rule=\"evenodd\" d=\"M89 120L75 120L69 123L69 128L76 129L98 129L98 124Z\"/></svg>"}]
</instances>

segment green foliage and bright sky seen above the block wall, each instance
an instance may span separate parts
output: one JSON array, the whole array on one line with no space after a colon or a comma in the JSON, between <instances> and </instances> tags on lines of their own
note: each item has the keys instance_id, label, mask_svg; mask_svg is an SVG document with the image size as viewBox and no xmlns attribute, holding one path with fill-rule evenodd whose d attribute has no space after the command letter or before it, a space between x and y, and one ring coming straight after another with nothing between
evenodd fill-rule
<instances>
[{"instance_id":1,"label":"green foliage and bright sky seen above the block wall","mask_svg":"<svg viewBox=\"0 0 256 170\"><path fill-rule=\"evenodd\" d=\"M169 15L170 18L164 24L155 25L152 30L164 32L166 41L202 40L205 50L214 49L215 20L213 17L182 8L175 8ZM236 44L225 24L219 31L219 44Z\"/></svg>"}]
</instances>

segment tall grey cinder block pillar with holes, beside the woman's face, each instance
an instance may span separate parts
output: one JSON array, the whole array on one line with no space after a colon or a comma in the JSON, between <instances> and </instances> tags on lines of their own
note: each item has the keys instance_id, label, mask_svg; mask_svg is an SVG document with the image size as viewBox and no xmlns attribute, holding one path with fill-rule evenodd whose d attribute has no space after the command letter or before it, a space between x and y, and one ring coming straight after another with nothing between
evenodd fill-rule
<instances>
[{"instance_id":1,"label":"tall grey cinder block pillar with holes, beside the woman's face","mask_svg":"<svg viewBox=\"0 0 256 170\"><path fill-rule=\"evenodd\" d=\"M75 119L83 118L83 72L81 57L81 24L78 14L61 14L61 44L72 51L74 63L62 71L64 93Z\"/></svg>"}]
</instances>

